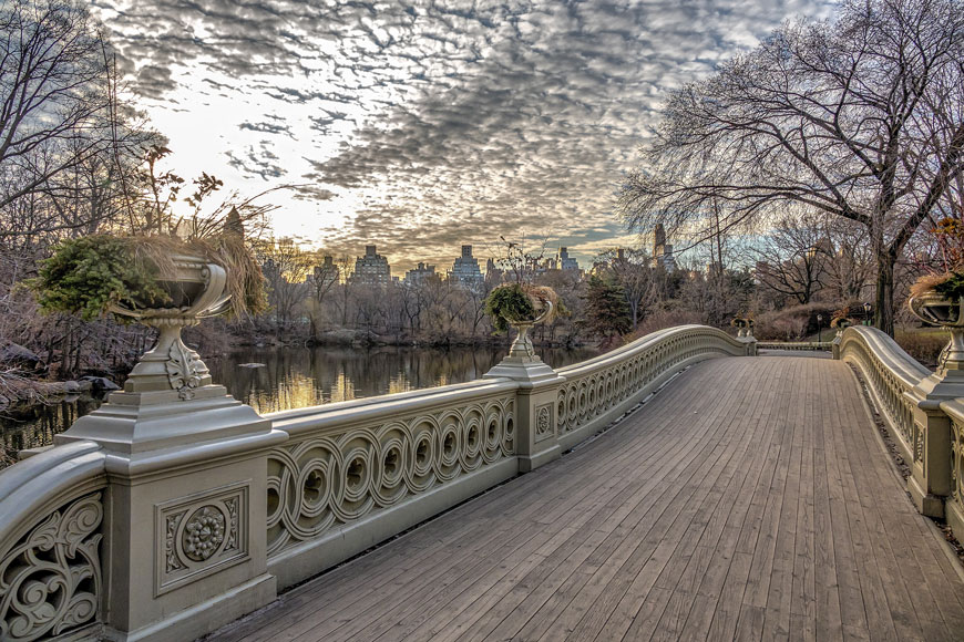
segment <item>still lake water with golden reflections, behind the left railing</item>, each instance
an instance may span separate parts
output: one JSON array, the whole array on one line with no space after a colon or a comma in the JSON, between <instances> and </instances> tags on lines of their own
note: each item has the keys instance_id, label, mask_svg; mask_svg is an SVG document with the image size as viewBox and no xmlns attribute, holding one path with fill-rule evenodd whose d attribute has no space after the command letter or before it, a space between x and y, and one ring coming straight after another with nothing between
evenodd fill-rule
<instances>
[{"instance_id":1,"label":"still lake water with golden reflections, behind the left railing","mask_svg":"<svg viewBox=\"0 0 964 642\"><path fill-rule=\"evenodd\" d=\"M216 383L260 413L271 413L449 385L481 377L505 349L414 348L264 349L205 358ZM542 349L543 361L564 367L598 354L591 348ZM253 366L252 364L261 364ZM93 412L101 400L90 395L0 415L2 445L8 452L52 443L78 417Z\"/></svg>"}]
</instances>

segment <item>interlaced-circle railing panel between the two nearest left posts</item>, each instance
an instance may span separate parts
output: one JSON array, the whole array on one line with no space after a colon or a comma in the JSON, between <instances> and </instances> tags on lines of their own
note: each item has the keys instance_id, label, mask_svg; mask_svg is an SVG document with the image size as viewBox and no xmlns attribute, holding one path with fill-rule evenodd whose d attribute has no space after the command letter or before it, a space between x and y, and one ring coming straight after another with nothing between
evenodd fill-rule
<instances>
[{"instance_id":1,"label":"interlaced-circle railing panel between the two nearest left posts","mask_svg":"<svg viewBox=\"0 0 964 642\"><path fill-rule=\"evenodd\" d=\"M268 556L515 454L514 395L343 433L268 455Z\"/></svg>"}]
</instances>

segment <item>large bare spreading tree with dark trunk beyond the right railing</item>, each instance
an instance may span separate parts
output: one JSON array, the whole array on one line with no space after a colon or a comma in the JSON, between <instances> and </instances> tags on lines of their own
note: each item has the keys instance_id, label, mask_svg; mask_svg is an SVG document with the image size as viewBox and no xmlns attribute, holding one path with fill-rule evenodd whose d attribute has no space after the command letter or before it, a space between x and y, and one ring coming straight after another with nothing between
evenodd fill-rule
<instances>
[{"instance_id":1,"label":"large bare spreading tree with dark trunk beyond the right railing","mask_svg":"<svg viewBox=\"0 0 964 642\"><path fill-rule=\"evenodd\" d=\"M847 0L670 94L627 220L724 227L788 201L868 229L876 325L893 332L894 265L964 172L964 3Z\"/></svg>"}]
</instances>

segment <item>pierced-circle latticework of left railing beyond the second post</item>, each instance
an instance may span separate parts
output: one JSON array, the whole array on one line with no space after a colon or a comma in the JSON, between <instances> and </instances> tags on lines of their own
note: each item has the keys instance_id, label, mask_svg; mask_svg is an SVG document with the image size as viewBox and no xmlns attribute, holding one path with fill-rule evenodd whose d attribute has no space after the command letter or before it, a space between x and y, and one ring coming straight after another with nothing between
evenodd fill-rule
<instances>
[{"instance_id":1,"label":"pierced-circle latticework of left railing beyond the second post","mask_svg":"<svg viewBox=\"0 0 964 642\"><path fill-rule=\"evenodd\" d=\"M626 401L679 363L700 354L732 354L716 333L694 331L668 338L625 361L582 376L566 374L556 416L560 434L571 433Z\"/></svg>"}]
</instances>

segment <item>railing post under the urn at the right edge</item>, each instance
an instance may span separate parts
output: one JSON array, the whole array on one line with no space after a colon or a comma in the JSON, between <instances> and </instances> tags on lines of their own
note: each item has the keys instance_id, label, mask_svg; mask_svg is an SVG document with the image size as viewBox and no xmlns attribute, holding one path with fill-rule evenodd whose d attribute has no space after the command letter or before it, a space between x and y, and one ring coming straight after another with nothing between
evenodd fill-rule
<instances>
[{"instance_id":1,"label":"railing post under the urn at the right edge","mask_svg":"<svg viewBox=\"0 0 964 642\"><path fill-rule=\"evenodd\" d=\"M923 515L944 517L944 499L951 494L951 420L941 402L964 396L961 362L945 362L913 391L904 393L914 402L913 464L907 491Z\"/></svg>"}]
</instances>

